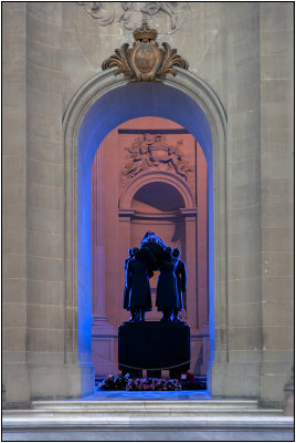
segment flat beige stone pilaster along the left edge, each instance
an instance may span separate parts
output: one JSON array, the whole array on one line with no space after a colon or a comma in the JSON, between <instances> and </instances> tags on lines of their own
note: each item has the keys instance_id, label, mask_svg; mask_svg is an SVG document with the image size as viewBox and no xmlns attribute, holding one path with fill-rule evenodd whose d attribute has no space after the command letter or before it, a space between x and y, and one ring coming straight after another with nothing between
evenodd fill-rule
<instances>
[{"instance_id":1,"label":"flat beige stone pilaster along the left edge","mask_svg":"<svg viewBox=\"0 0 296 443\"><path fill-rule=\"evenodd\" d=\"M2 3L2 381L30 400L27 369L27 3Z\"/></svg>"}]
</instances>

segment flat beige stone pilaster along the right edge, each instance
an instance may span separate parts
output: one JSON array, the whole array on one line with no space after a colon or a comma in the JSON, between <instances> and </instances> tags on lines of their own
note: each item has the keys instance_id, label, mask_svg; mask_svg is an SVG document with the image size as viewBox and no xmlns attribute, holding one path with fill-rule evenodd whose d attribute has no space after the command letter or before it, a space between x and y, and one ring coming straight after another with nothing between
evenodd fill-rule
<instances>
[{"instance_id":1,"label":"flat beige stone pilaster along the right edge","mask_svg":"<svg viewBox=\"0 0 296 443\"><path fill-rule=\"evenodd\" d=\"M260 3L261 401L283 405L294 361L293 4Z\"/></svg>"}]
</instances>

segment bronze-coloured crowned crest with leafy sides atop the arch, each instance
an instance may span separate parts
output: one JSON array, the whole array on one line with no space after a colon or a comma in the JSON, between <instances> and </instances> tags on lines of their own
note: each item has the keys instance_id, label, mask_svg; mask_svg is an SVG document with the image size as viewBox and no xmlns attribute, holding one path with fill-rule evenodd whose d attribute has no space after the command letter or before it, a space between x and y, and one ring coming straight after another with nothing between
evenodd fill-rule
<instances>
[{"instance_id":1,"label":"bronze-coloured crowned crest with leafy sides atop the arch","mask_svg":"<svg viewBox=\"0 0 296 443\"><path fill-rule=\"evenodd\" d=\"M163 49L158 47L157 31L148 28L146 21L135 30L134 38L133 48L125 43L103 62L103 71L116 66L115 75L124 74L135 82L154 82L167 74L176 75L173 66L188 70L188 62L177 54L176 49L168 43L162 43Z\"/></svg>"}]
</instances>

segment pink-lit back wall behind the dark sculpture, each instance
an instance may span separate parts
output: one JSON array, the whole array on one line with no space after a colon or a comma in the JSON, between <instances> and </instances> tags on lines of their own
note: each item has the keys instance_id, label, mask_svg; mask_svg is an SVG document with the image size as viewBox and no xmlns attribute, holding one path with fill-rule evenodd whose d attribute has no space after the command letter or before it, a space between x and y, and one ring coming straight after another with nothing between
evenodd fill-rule
<instances>
[{"instance_id":1,"label":"pink-lit back wall behind the dark sculpture","mask_svg":"<svg viewBox=\"0 0 296 443\"><path fill-rule=\"evenodd\" d=\"M131 197L129 207L119 208L129 182L140 179L147 173L142 171L131 179L125 176L130 162L125 148L141 137L144 130L159 131L165 143L172 146L179 143L178 146L181 146L183 158L191 169L186 185L193 202L194 207L190 209L193 216L190 213L188 218L180 212L184 208L184 200L177 187L166 183L168 173L178 179L180 175L173 167L169 169L167 166L154 168L154 172L163 175L163 183L152 182L142 186ZM182 126L165 119L135 119L113 130L95 156L92 169L93 316L103 319L97 320L106 324L102 330L115 331L112 340L108 341L106 332L104 339L93 343L97 374L102 374L99 365L108 367L106 361L114 360L117 365L117 328L129 318L129 313L123 310L124 259L129 247L139 246L148 229L155 230L167 245L181 249L181 259L187 264L189 276L187 310L182 317L191 328L191 371L205 374L209 358L207 162L195 138L182 130ZM154 302L157 276L158 272L150 281ZM154 306L146 319L158 320L160 317Z\"/></svg>"}]
</instances>

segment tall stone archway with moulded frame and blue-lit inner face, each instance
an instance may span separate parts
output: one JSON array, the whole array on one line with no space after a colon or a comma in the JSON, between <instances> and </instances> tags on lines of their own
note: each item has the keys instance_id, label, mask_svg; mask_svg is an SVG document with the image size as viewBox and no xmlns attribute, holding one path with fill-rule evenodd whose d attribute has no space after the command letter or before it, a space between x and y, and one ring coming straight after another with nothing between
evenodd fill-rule
<instances>
[{"instance_id":1,"label":"tall stone archway with moulded frame and blue-lit inner face","mask_svg":"<svg viewBox=\"0 0 296 443\"><path fill-rule=\"evenodd\" d=\"M173 104L173 105L172 105ZM214 323L226 329L226 311L220 312L220 281L226 277L226 117L214 91L201 79L178 70L177 78L162 83L128 84L101 73L85 83L64 115L64 245L65 299L72 308L72 334L66 341L65 361L81 367L82 394L93 390L91 362L91 166L97 146L119 123L138 116L170 119L184 126L200 143L208 162L209 183L209 292L211 362L214 352L228 349L228 336L214 344ZM76 195L77 193L77 195ZM222 255L220 255L220 248ZM220 260L225 262L220 267ZM226 290L225 290L226 297ZM223 300L225 301L225 300ZM216 316L214 318L214 306ZM224 313L223 313L224 312ZM222 317L223 316L223 317ZM77 329L76 329L77 319ZM211 368L210 368L211 369ZM210 370L211 372L211 370ZM211 373L209 372L209 378Z\"/></svg>"}]
</instances>

